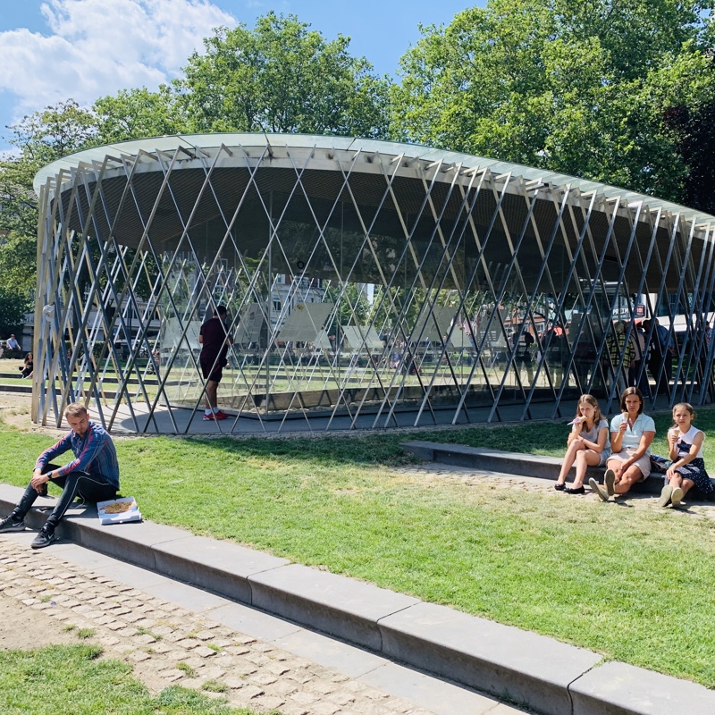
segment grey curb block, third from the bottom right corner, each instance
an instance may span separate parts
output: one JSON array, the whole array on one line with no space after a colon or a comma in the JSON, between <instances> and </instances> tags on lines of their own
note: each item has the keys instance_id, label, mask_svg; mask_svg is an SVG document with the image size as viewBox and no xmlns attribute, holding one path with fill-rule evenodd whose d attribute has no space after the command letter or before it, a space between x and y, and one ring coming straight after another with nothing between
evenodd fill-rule
<instances>
[{"instance_id":1,"label":"grey curb block, third from the bottom right corner","mask_svg":"<svg viewBox=\"0 0 715 715\"><path fill-rule=\"evenodd\" d=\"M420 601L411 596L291 564L248 579L253 604L284 618L382 652L378 621Z\"/></svg>"}]
</instances>

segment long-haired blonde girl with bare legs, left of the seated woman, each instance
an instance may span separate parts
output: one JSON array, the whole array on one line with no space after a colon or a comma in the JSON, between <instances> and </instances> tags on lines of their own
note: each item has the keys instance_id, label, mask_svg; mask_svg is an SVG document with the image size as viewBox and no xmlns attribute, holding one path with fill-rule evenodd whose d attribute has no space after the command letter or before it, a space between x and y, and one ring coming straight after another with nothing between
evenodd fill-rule
<instances>
[{"instance_id":1,"label":"long-haired blonde girl with bare legs, left of the seated woman","mask_svg":"<svg viewBox=\"0 0 715 715\"><path fill-rule=\"evenodd\" d=\"M581 395L572 424L574 427L566 442L568 449L554 489L567 494L583 494L586 469L604 465L610 455L609 424L603 419L598 402L592 395ZM573 486L568 487L566 477L574 463L576 477Z\"/></svg>"}]
</instances>

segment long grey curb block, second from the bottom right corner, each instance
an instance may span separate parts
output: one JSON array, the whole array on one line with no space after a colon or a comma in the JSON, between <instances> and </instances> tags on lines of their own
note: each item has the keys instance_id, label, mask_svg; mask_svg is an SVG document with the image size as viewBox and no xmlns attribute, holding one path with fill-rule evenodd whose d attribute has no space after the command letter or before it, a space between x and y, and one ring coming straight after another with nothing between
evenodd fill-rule
<instances>
[{"instance_id":1,"label":"long grey curb block, second from the bottom right corner","mask_svg":"<svg viewBox=\"0 0 715 715\"><path fill-rule=\"evenodd\" d=\"M569 683L601 661L597 653L433 603L383 618L380 628L391 658L553 715L571 714Z\"/></svg>"}]
</instances>

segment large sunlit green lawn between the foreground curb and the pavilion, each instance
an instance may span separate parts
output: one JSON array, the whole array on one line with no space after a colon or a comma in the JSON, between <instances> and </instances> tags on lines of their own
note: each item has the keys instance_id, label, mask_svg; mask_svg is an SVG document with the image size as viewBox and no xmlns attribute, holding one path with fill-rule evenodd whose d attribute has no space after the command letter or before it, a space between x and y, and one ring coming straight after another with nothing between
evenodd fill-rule
<instances>
[{"instance_id":1,"label":"large sunlit green lawn between the foreground curb and the pavilion","mask_svg":"<svg viewBox=\"0 0 715 715\"><path fill-rule=\"evenodd\" d=\"M665 452L669 417L656 420ZM715 411L696 424L715 427ZM46 437L2 427L4 481ZM409 439L563 453L564 424L305 439L121 439L143 514L715 687L715 521L400 470ZM715 442L715 441L713 441ZM706 441L706 462L715 444ZM556 474L554 474L554 478ZM652 502L651 502L652 503Z\"/></svg>"}]
</instances>

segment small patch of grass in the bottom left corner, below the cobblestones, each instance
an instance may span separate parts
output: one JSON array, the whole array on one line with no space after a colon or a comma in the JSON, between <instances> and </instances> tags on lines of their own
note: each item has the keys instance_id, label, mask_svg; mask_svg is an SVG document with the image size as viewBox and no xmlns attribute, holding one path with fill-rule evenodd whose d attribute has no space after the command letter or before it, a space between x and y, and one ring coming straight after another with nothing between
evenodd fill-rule
<instances>
[{"instance_id":1,"label":"small patch of grass in the bottom left corner, below the cobblestones","mask_svg":"<svg viewBox=\"0 0 715 715\"><path fill-rule=\"evenodd\" d=\"M96 645L0 651L3 715L251 715L186 688L153 697L119 660L97 660Z\"/></svg>"}]
</instances>

